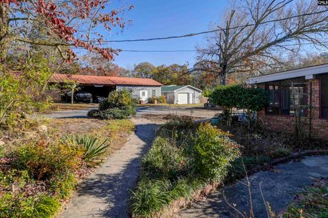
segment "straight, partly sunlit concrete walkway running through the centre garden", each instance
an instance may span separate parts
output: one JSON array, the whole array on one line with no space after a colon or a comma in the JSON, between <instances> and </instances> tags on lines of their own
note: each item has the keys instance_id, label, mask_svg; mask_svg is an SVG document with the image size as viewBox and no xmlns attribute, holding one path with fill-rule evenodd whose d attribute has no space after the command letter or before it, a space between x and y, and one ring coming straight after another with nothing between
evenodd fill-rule
<instances>
[{"instance_id":1,"label":"straight, partly sunlit concrete walkway running through the centre garden","mask_svg":"<svg viewBox=\"0 0 328 218\"><path fill-rule=\"evenodd\" d=\"M148 150L156 124L133 118L137 131L80 186L59 217L130 217L130 190L136 185L141 156Z\"/></svg>"}]
</instances>

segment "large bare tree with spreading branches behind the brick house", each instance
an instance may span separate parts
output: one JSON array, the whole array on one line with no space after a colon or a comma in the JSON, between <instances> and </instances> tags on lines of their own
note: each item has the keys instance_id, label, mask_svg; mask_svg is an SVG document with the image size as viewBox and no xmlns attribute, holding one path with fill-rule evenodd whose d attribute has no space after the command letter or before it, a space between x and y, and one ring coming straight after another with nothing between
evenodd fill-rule
<instances>
[{"instance_id":1,"label":"large bare tree with spreading branches behind the brick house","mask_svg":"<svg viewBox=\"0 0 328 218\"><path fill-rule=\"evenodd\" d=\"M297 53L304 43L327 48L327 20L327 7L317 1L235 1L208 44L197 49L192 70L215 72L224 85L228 74L286 64L284 55Z\"/></svg>"}]
</instances>

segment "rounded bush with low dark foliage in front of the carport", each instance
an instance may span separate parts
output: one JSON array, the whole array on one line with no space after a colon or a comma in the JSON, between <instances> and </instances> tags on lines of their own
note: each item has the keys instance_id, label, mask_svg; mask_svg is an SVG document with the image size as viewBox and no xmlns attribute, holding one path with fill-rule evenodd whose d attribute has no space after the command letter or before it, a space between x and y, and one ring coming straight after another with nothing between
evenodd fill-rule
<instances>
[{"instance_id":1,"label":"rounded bush with low dark foliage in front of the carport","mask_svg":"<svg viewBox=\"0 0 328 218\"><path fill-rule=\"evenodd\" d=\"M102 100L98 109L92 109L87 113L91 118L111 120L126 119L135 115L135 99L128 90L115 90L109 93L108 98Z\"/></svg>"}]
</instances>

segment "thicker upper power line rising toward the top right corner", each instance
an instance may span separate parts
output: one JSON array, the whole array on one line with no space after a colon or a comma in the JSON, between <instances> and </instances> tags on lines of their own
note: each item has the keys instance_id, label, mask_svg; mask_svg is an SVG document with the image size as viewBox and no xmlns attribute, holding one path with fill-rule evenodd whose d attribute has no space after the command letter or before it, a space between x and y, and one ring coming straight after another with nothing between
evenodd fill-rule
<instances>
[{"instance_id":1,"label":"thicker upper power line rising toward the top right corner","mask_svg":"<svg viewBox=\"0 0 328 218\"><path fill-rule=\"evenodd\" d=\"M297 18L297 17L301 17L301 16L309 16L309 15L313 15L313 14L321 14L324 12L328 12L328 10L323 10L320 12L312 12L312 13L307 13L307 14L299 14L299 15L295 15L295 16L289 16L286 18L279 18L279 19L275 19L275 20L271 20L271 21L263 21L261 23L252 23L252 24L240 25L240 26L224 28L224 29L238 29L238 28L243 28L243 27L251 27L254 25L262 25L262 24L272 23L272 22L277 22L277 21L286 21L291 18ZM206 33L214 33L216 31L222 31L222 30L223 29L213 29L213 30L209 30L209 31L188 33L188 34L179 35L179 36L167 36L167 37L160 37L160 38L147 38L147 39L137 39L137 40L102 40L102 42L142 42L142 41L153 41L153 40L169 40L169 39L174 39L174 38L186 38L186 37L198 36L198 35L202 35L202 34L206 34ZM92 41L96 42L95 40L92 40Z\"/></svg>"}]
</instances>

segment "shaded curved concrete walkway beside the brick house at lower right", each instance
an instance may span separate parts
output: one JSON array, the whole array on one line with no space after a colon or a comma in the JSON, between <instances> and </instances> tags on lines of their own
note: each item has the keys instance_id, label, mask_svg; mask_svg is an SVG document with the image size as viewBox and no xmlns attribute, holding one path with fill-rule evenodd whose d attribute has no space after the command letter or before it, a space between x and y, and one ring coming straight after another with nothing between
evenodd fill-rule
<instances>
[{"instance_id":1,"label":"shaded curved concrete walkway beside the brick house at lower right","mask_svg":"<svg viewBox=\"0 0 328 218\"><path fill-rule=\"evenodd\" d=\"M295 193L312 184L311 178L320 177L328 177L328 156L307 156L301 161L277 165L272 171L250 176L255 217L267 217L260 185L264 200L269 202L275 213L279 213L294 199ZM247 183L246 180L241 182ZM247 186L241 182L219 189L206 200L195 202L191 208L182 210L176 217L242 217L236 216L236 210L228 206L227 202L234 204L241 213L249 215L249 193Z\"/></svg>"}]
</instances>

